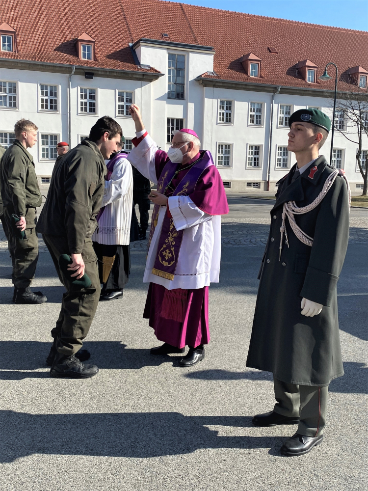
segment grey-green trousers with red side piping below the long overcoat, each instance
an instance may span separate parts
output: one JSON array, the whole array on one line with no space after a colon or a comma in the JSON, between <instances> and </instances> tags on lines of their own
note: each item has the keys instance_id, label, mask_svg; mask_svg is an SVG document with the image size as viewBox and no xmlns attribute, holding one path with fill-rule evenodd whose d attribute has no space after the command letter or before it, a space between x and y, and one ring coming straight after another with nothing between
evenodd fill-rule
<instances>
[{"instance_id":1,"label":"grey-green trousers with red side piping below the long overcoat","mask_svg":"<svg viewBox=\"0 0 368 491\"><path fill-rule=\"evenodd\" d=\"M273 410L282 416L299 417L296 433L319 436L326 424L328 385L296 385L273 378L275 399Z\"/></svg>"}]
</instances>

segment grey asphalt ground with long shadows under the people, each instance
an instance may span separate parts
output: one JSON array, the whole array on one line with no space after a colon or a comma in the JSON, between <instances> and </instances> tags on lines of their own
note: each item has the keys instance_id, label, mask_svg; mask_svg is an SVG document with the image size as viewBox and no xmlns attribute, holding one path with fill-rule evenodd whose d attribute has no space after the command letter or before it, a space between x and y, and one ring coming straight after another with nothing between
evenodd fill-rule
<instances>
[{"instance_id":1,"label":"grey asphalt ground with long shadows under the people","mask_svg":"<svg viewBox=\"0 0 368 491\"><path fill-rule=\"evenodd\" d=\"M338 284L345 376L330 385L325 438L286 458L279 448L296 427L252 426L273 407L272 375L245 367L272 203L232 195L229 203L211 340L189 369L177 355L149 353L160 343L142 319L146 244L137 242L124 298L100 303L85 342L99 374L50 378L63 287L41 242L32 287L49 301L12 304L0 242L1 491L367 491L368 210L351 211Z\"/></svg>"}]
</instances>

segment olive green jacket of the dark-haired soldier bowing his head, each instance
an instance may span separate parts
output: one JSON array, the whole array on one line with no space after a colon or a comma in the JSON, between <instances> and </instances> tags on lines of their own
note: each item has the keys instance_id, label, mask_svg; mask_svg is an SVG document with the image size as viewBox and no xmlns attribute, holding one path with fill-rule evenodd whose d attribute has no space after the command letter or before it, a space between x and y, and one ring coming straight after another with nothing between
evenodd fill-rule
<instances>
[{"instance_id":1,"label":"olive green jacket of the dark-haired soldier bowing his head","mask_svg":"<svg viewBox=\"0 0 368 491\"><path fill-rule=\"evenodd\" d=\"M36 230L67 237L70 254L81 254L96 229L105 189L106 165L93 141L83 140L55 164Z\"/></svg>"}]
</instances>

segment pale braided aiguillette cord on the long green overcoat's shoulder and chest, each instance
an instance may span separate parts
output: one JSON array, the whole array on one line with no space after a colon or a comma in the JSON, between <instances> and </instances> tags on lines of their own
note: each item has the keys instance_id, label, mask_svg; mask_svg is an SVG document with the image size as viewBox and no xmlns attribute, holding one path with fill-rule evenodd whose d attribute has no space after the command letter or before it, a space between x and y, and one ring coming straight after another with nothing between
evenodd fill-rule
<instances>
[{"instance_id":1,"label":"pale braided aiguillette cord on the long green overcoat's shoulder and chest","mask_svg":"<svg viewBox=\"0 0 368 491\"><path fill-rule=\"evenodd\" d=\"M349 181L347 180L345 176L345 171L342 169L335 169L331 174L327 177L322 191L318 194L318 196L315 198L315 200L307 205L307 206L302 206L298 207L296 206L295 201L288 201L287 203L284 203L284 208L283 208L283 213L282 213L282 224L280 227L280 232L281 232L281 239L280 239L280 255L279 255L279 261L281 261L281 251L283 248L283 238L284 238L284 233L286 237L286 243L289 247L289 239L288 239L288 232L286 230L285 226L285 220L286 217L289 218L289 223L292 231L296 235L296 237L302 242L303 244L306 244L307 246L313 246L313 237L310 237L307 235L303 230L296 224L294 215L304 215L305 213L308 213L312 210L314 210L319 203L322 201L322 199L325 197L327 192L330 190L331 186L333 185L335 179L337 178L338 175L342 175L342 177L345 179L346 184L347 184L347 190L349 193L349 211L350 211L350 202L351 202L351 191L350 191L350 186L349 186Z\"/></svg>"}]
</instances>

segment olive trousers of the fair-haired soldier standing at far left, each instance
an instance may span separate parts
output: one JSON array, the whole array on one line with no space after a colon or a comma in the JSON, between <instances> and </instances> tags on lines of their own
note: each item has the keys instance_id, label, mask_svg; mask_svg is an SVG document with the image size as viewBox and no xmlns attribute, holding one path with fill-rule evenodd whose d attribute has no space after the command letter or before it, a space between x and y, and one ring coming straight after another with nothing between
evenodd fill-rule
<instances>
[{"instance_id":1,"label":"olive trousers of the fair-haired soldier standing at far left","mask_svg":"<svg viewBox=\"0 0 368 491\"><path fill-rule=\"evenodd\" d=\"M1 222L4 224L8 233L9 251L12 256L13 272L12 281L17 288L27 288L34 278L38 261L38 238L35 230L35 210L32 210L34 217L27 217L26 238L20 239L16 234L12 223L11 215L14 213L8 208L4 208ZM31 227L29 227L31 225ZM5 229L4 229L5 231Z\"/></svg>"}]
</instances>

